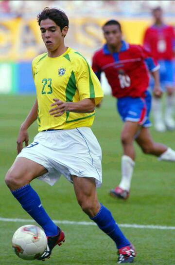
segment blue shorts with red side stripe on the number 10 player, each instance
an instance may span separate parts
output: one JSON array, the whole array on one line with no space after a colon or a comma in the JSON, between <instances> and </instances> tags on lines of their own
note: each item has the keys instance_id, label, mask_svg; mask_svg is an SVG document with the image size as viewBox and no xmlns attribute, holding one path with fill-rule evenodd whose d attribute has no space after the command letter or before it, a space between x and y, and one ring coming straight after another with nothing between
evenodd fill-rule
<instances>
[{"instance_id":1,"label":"blue shorts with red side stripe on the number 10 player","mask_svg":"<svg viewBox=\"0 0 175 265\"><path fill-rule=\"evenodd\" d=\"M145 92L145 98L124 96L117 99L117 109L123 121L139 122L143 127L150 127L151 94Z\"/></svg>"}]
</instances>

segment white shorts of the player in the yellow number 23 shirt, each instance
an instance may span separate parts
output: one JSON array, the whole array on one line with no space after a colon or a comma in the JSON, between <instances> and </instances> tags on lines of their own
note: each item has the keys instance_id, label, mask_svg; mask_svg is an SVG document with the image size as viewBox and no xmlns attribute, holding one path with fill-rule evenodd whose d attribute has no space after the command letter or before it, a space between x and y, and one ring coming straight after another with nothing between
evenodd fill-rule
<instances>
[{"instance_id":1,"label":"white shorts of the player in the yellow number 23 shirt","mask_svg":"<svg viewBox=\"0 0 175 265\"><path fill-rule=\"evenodd\" d=\"M18 157L28 158L46 168L48 172L38 179L51 186L61 174L70 182L70 176L76 175L95 178L97 187L102 184L102 150L88 127L39 132Z\"/></svg>"}]
</instances>

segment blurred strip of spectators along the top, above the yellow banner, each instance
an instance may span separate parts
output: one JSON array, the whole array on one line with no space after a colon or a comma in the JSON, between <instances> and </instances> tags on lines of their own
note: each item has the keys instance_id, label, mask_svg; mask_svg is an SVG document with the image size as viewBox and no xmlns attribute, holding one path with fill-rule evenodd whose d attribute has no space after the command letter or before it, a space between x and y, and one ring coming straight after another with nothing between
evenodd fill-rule
<instances>
[{"instance_id":1,"label":"blurred strip of spectators along the top, above the yellow banner","mask_svg":"<svg viewBox=\"0 0 175 265\"><path fill-rule=\"evenodd\" d=\"M0 16L20 15L28 17L38 14L46 6L58 7L69 16L143 16L150 9L160 5L168 15L175 13L173 0L0 0Z\"/></svg>"}]
</instances>

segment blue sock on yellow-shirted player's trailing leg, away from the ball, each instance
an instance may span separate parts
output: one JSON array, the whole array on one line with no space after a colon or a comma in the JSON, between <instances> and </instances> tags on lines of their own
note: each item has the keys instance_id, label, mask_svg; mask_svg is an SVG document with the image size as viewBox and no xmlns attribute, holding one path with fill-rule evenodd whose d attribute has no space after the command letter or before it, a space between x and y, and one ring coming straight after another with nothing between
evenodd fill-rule
<instances>
[{"instance_id":1,"label":"blue sock on yellow-shirted player's trailing leg, away from the ball","mask_svg":"<svg viewBox=\"0 0 175 265\"><path fill-rule=\"evenodd\" d=\"M111 212L101 204L99 212L94 216L90 217L102 231L104 231L110 238L112 238L117 246L121 248L123 246L129 246L130 242L123 235L123 232L116 224Z\"/></svg>"}]
</instances>

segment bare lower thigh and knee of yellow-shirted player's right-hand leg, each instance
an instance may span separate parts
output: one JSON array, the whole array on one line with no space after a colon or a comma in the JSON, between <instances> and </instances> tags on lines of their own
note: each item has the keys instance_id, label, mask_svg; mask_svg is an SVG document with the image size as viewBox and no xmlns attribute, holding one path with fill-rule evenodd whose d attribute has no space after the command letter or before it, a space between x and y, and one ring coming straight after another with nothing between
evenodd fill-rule
<instances>
[{"instance_id":1,"label":"bare lower thigh and knee of yellow-shirted player's right-hand leg","mask_svg":"<svg viewBox=\"0 0 175 265\"><path fill-rule=\"evenodd\" d=\"M71 175L75 195L78 203L82 207L93 208L99 205L96 191L95 179L86 177L77 177Z\"/></svg>"}]
</instances>

